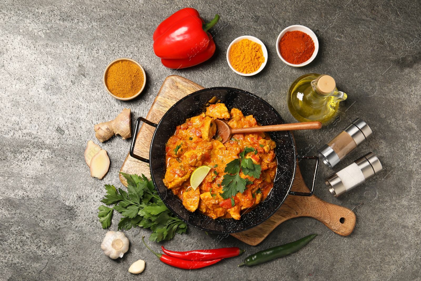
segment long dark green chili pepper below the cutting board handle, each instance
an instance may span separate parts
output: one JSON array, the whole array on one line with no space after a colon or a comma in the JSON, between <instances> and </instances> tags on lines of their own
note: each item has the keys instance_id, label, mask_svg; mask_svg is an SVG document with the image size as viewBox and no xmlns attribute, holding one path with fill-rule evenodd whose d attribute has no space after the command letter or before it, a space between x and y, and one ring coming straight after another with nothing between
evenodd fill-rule
<instances>
[{"instance_id":1,"label":"long dark green chili pepper below the cutting board handle","mask_svg":"<svg viewBox=\"0 0 421 281\"><path fill-rule=\"evenodd\" d=\"M259 263L267 262L268 260L273 260L277 257L286 256L287 254L296 252L302 247L306 246L306 244L309 243L316 236L317 234L312 234L291 243L283 244L280 246L257 252L256 254L252 254L246 257L244 262L242 262L238 266L258 265Z\"/></svg>"}]
</instances>

